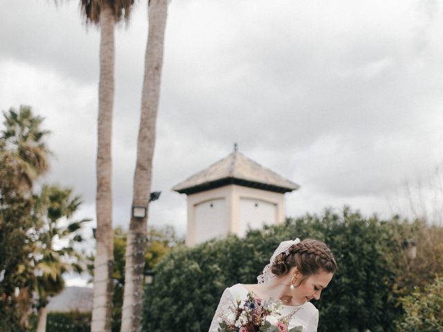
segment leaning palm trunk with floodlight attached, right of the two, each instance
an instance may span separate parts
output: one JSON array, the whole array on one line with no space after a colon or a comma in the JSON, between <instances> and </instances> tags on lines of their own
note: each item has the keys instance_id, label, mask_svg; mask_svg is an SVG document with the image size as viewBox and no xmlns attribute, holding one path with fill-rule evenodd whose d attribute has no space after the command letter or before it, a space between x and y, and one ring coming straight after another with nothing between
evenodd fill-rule
<instances>
[{"instance_id":1,"label":"leaning palm trunk with floodlight attached, right of the two","mask_svg":"<svg viewBox=\"0 0 443 332\"><path fill-rule=\"evenodd\" d=\"M147 207L150 203L152 156L154 154L156 116L159 109L163 40L165 37L168 0L149 1L149 34L145 53L145 75L138 129L137 161L134 174L132 205ZM140 331L143 266L147 217L131 218L127 237L125 293L120 331Z\"/></svg>"}]
</instances>

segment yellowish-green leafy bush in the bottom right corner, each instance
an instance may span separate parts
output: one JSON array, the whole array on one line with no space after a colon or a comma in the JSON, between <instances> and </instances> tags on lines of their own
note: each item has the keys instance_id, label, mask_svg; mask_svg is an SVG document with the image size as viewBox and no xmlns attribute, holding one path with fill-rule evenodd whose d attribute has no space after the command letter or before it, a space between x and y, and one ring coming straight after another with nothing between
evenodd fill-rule
<instances>
[{"instance_id":1,"label":"yellowish-green leafy bush in the bottom right corner","mask_svg":"<svg viewBox=\"0 0 443 332\"><path fill-rule=\"evenodd\" d=\"M405 315L397 323L399 332L434 332L443 331L443 278L420 291L415 288L413 294L401 299Z\"/></svg>"}]
</instances>

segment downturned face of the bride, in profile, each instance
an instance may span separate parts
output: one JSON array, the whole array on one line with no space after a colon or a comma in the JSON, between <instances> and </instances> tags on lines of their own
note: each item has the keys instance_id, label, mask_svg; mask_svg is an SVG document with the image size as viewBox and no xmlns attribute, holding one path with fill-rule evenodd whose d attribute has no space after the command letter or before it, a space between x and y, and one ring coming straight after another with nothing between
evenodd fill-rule
<instances>
[{"instance_id":1,"label":"downturned face of the bride, in profile","mask_svg":"<svg viewBox=\"0 0 443 332\"><path fill-rule=\"evenodd\" d=\"M293 273L299 280L303 280L303 275L301 273ZM321 270L320 273L316 275L310 275L305 278L301 284L296 282L296 288L293 291L293 295L296 297L296 302L303 304L310 301L311 299L320 299L321 291L327 287L332 279L333 273Z\"/></svg>"}]
</instances>

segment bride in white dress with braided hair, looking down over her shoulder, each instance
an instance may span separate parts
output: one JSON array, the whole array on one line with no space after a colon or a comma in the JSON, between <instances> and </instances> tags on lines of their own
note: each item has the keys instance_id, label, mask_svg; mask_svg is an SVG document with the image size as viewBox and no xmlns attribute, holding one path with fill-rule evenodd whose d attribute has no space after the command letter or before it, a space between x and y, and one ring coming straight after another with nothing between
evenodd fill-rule
<instances>
[{"instance_id":1,"label":"bride in white dress with braided hair, looking down over her shoulder","mask_svg":"<svg viewBox=\"0 0 443 332\"><path fill-rule=\"evenodd\" d=\"M249 292L261 299L280 299L282 315L296 311L289 329L302 326L303 332L316 332L318 310L309 301L320 298L336 268L334 255L325 243L314 239L283 241L257 277L258 284L235 284L225 289L209 332L217 332L221 317L230 313L229 306L246 299Z\"/></svg>"}]
</instances>

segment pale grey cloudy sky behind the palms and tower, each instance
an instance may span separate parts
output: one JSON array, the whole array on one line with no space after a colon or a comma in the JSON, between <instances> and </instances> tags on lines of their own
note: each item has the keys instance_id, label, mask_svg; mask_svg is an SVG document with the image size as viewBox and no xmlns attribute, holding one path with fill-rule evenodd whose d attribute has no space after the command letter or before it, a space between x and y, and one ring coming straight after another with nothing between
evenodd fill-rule
<instances>
[{"instance_id":1,"label":"pale grey cloudy sky behind the palms and tower","mask_svg":"<svg viewBox=\"0 0 443 332\"><path fill-rule=\"evenodd\" d=\"M55 158L45 181L74 187L84 200L79 216L95 218L100 34L83 24L78 1L62 2L0 0L0 108L28 104L46 118ZM114 224L125 228L146 2L136 1L116 33ZM343 205L408 215L405 183L415 201L431 204L443 160L442 6L172 0L152 187L162 195L150 224L184 234L186 196L172 186L224 158L234 142L301 185L287 194L288 216Z\"/></svg>"}]
</instances>

